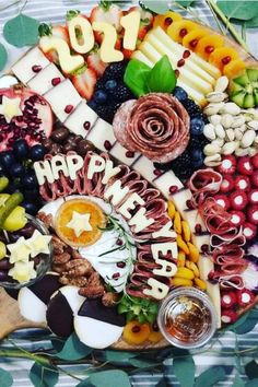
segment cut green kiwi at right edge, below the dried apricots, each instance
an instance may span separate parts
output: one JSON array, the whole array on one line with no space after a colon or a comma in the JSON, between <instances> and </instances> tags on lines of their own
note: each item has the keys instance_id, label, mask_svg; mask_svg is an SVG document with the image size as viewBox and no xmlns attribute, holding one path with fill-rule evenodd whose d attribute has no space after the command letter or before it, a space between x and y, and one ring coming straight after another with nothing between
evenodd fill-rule
<instances>
[{"instance_id":1,"label":"cut green kiwi at right edge, below the dried apricots","mask_svg":"<svg viewBox=\"0 0 258 387\"><path fill-rule=\"evenodd\" d=\"M231 81L230 98L244 108L258 105L258 69L248 68Z\"/></svg>"}]
</instances>

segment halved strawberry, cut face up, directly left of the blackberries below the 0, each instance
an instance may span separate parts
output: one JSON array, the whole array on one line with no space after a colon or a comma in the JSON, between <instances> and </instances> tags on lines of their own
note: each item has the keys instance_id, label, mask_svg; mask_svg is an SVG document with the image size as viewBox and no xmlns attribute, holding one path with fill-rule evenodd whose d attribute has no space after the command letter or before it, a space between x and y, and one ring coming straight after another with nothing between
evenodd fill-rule
<instances>
[{"instance_id":1,"label":"halved strawberry, cut face up, directly left of the blackberries below the 0","mask_svg":"<svg viewBox=\"0 0 258 387\"><path fill-rule=\"evenodd\" d=\"M83 98L91 99L96 84L96 72L93 69L81 68L71 77L71 81Z\"/></svg>"}]
</instances>

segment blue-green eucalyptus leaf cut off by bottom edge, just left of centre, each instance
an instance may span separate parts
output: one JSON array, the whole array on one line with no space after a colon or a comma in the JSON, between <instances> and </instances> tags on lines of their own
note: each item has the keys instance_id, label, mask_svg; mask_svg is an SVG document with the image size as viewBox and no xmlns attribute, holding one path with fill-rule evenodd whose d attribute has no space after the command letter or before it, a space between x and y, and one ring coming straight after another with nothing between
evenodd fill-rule
<instances>
[{"instance_id":1,"label":"blue-green eucalyptus leaf cut off by bottom edge, just left of centre","mask_svg":"<svg viewBox=\"0 0 258 387\"><path fill-rule=\"evenodd\" d=\"M120 370L96 372L90 376L90 382L95 387L131 387L127 373Z\"/></svg>"}]
</instances>

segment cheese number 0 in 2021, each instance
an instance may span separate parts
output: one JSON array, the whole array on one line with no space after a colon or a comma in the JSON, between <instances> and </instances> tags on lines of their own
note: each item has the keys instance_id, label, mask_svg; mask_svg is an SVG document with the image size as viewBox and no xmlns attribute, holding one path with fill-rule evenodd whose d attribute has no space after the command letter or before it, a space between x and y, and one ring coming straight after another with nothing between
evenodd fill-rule
<instances>
[{"instance_id":1,"label":"cheese number 0 in 2021","mask_svg":"<svg viewBox=\"0 0 258 387\"><path fill-rule=\"evenodd\" d=\"M82 43L78 42L77 30L82 34ZM83 16L78 15L69 22L69 36L72 48L77 52L86 54L94 47L94 34L91 23Z\"/></svg>"}]
</instances>

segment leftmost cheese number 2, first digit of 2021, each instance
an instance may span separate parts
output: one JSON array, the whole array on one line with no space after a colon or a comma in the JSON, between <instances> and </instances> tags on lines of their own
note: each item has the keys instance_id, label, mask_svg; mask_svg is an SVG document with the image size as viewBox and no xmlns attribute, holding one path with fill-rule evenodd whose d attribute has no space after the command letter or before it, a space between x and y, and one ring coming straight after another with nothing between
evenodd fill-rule
<instances>
[{"instance_id":1,"label":"leftmost cheese number 2, first digit of 2021","mask_svg":"<svg viewBox=\"0 0 258 387\"><path fill-rule=\"evenodd\" d=\"M84 64L84 58L81 55L71 55L66 40L55 36L43 36L40 47L44 52L55 49L58 54L59 63L64 73L70 73Z\"/></svg>"}]
</instances>

